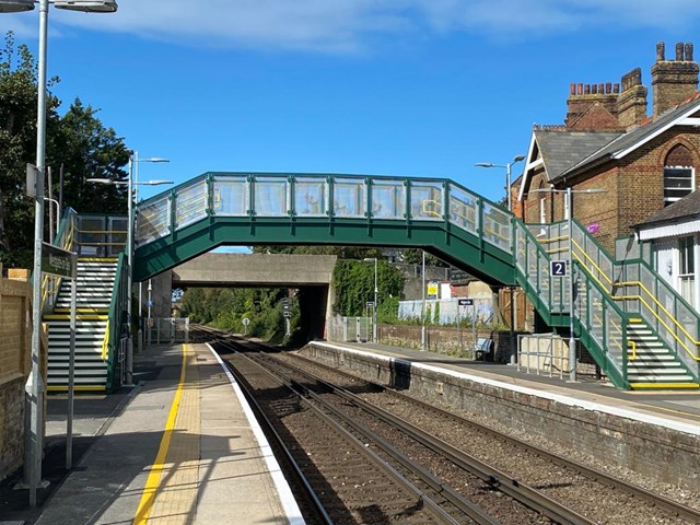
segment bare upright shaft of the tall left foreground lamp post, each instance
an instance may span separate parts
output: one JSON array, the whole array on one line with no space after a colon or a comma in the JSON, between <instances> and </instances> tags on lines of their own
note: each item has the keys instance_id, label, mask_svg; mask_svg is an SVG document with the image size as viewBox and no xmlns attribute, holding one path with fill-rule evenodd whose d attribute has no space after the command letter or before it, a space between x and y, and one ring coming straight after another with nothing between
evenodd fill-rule
<instances>
[{"instance_id":1,"label":"bare upright shaft of the tall left foreground lamp post","mask_svg":"<svg viewBox=\"0 0 700 525\"><path fill-rule=\"evenodd\" d=\"M34 270L32 281L32 372L26 384L31 401L30 506L36 506L36 489L42 481L42 416L44 382L39 369L42 352L42 242L44 240L44 175L46 172L46 57L48 0L39 0L38 96L36 115L36 201L34 206Z\"/></svg>"}]
</instances>

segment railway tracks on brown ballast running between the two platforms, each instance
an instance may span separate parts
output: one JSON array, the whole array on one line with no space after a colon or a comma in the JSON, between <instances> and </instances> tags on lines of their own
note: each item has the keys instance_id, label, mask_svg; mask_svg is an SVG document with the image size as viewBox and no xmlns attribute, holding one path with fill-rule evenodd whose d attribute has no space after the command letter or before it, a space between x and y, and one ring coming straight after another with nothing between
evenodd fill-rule
<instances>
[{"instance_id":1,"label":"railway tracks on brown ballast running between the two platforms","mask_svg":"<svg viewBox=\"0 0 700 525\"><path fill-rule=\"evenodd\" d=\"M207 337L211 337L211 335ZM220 341L220 343L225 346L238 345L230 339ZM411 495L392 511L382 511L384 513L383 518L374 523L423 523L422 520L425 520L424 523L637 523L637 521L616 521L615 516L600 515L600 512L597 514L595 512L591 513L588 510L596 506L595 500L598 497L586 499L565 495L565 492L574 491L574 486L583 488L579 490L592 491L591 483L597 483L598 489L604 487L604 490L608 492L622 492L633 498L634 501L641 502L640 505L644 508L642 515L646 516L646 518L639 523L686 524L700 522L700 513L692 509L625 483L605 472L595 471L590 467L575 464L547 451L538 450L526 443L495 433L490 429L466 421L452 412L442 411L434 406L425 405L412 397L393 390L387 392L381 385L360 381L357 377L348 376L348 374L342 374L316 362L302 361L303 358L295 354L284 353L279 355L280 358L283 357L285 361L294 360L296 362L296 364L282 364L270 355L259 353L250 343L247 343L245 348L237 347L237 350L241 353L224 355L224 359L236 362L235 368L238 369L241 375L246 376L246 382L250 374L269 375L275 373L280 376L277 380L278 384L285 384L289 392L293 390L296 396L300 396L298 400L290 401L296 409L301 404L308 404L315 408L305 408L305 411L317 411L340 418L341 422L337 423L337 425L345 429L345 433L349 433L354 438L355 446L359 443L363 448L375 452L378 456L380 465L398 460L399 465L392 468L408 480L408 483L404 483L402 490L405 492L408 491ZM235 355L235 359L233 355ZM253 365L250 362L250 364L245 365L246 370L241 370L243 366L241 362L247 361L243 355L249 355L257 363ZM260 372L260 366L275 369L275 372ZM304 370L300 366L303 366ZM255 369L258 372L253 372ZM315 376L312 377L308 373L310 370L313 370L314 374L322 375L327 380L330 378L330 381L318 381ZM346 388L340 388L335 383L345 383ZM258 388L260 392L265 389L264 387ZM277 392L279 393L279 390ZM355 394L359 394L359 396ZM382 404L388 407L389 410L374 406L378 398L390 399L376 404ZM304 400L301 401L299 399ZM369 402L370 399L373 402ZM270 400L270 404L279 405L279 400ZM417 411L417 407L432 416L434 422L428 424L429 430L425 430L424 423L421 428L420 424L406 421L396 415L412 413L415 416L413 412ZM292 411L292 413L295 412ZM282 416L278 418L285 421L289 417L290 413L282 412ZM407 417L406 419L411 418ZM470 429L470 433L460 443L451 443L436 439L435 435L448 434L448 432L441 430L445 424ZM397 428L400 430L395 430ZM308 433L307 425L302 425L302 433L304 431ZM343 432L339 431L339 433L342 434ZM401 438L397 438L399 434ZM520 456L522 454L538 458L540 464L547 463L549 467L541 467L540 470L542 475L549 476L549 480L542 481L542 479L537 478L534 483L537 485L537 489L527 487L524 478L514 476L510 471L499 470L493 466L487 465L486 462L465 453L468 447L464 445L464 441L477 440L475 438L477 434L480 435L479 439L481 441L491 441L492 446L493 443L500 443L499 446L505 446L513 451L511 454L513 460L511 463L521 463ZM296 435L294 439L299 440L298 445L300 445L302 439ZM390 443L390 445L383 448L383 442ZM417 445L418 443L420 445ZM417 448L418 446L422 448L419 450ZM390 447L398 452L386 452ZM332 459L330 462L332 463ZM365 463L369 462L365 460ZM420 464L423 470L420 476L415 468L411 468L410 464L416 463ZM559 469L553 472L553 476L557 477L556 480L551 478L552 465ZM465 477L467 476L465 472L470 472L468 475L470 478ZM363 476L361 474L359 479L363 479ZM336 478L331 476L325 477L325 479L328 481ZM372 477L370 476L368 479L372 479ZM313 486L314 483L310 482L310 485ZM355 481L353 487L355 485L362 485L362 481ZM399 482L399 485L401 483ZM411 488L417 489L417 491L411 492ZM445 503L445 494L452 494L453 492L456 501L460 501L460 498L466 501ZM596 492L593 491L591 493L595 494ZM384 495L372 487L370 488L369 498L375 504L381 504L378 502ZM587 506L581 506L582 499L588 500ZM561 503L562 501L565 501L567 504ZM338 501L335 502L335 504L338 503ZM366 503L360 503L354 509L366 510L370 508ZM623 505L635 504L629 503L627 500L623 502L619 500L619 503ZM323 504L325 505L326 503ZM434 508L433 504L435 505ZM352 503L347 503L345 500L342 505L346 505L346 510L353 509ZM576 509L578 512L572 511L568 505ZM442 511L435 510L438 508L442 509ZM401 511L399 509L404 509L404 512L406 509L410 509L413 513L411 516L413 521L408 521L408 516L400 515ZM430 518L419 514L418 510L427 512ZM358 512L348 512L350 516L340 516L340 520L334 520L334 522L372 523L368 521L369 517L366 515L360 518ZM390 514L392 512L394 514ZM606 512L609 514L609 511L604 510L602 512L603 514ZM470 516L468 517L470 521L466 521L466 516ZM347 521L349 517L357 521ZM441 520L447 521L443 522ZM622 517L621 520L626 518Z\"/></svg>"}]
</instances>

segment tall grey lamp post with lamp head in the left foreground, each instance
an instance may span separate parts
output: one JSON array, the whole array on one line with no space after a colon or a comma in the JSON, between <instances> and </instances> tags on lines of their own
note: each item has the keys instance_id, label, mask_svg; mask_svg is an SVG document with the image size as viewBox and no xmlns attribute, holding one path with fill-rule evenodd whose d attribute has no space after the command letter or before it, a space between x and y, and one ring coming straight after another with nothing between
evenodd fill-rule
<instances>
[{"instance_id":1,"label":"tall grey lamp post with lamp head in the left foreground","mask_svg":"<svg viewBox=\"0 0 700 525\"><path fill-rule=\"evenodd\" d=\"M25 460L30 466L30 506L36 506L36 489L42 480L42 421L39 411L43 410L40 396L44 394L44 385L39 371L40 341L42 341L42 242L44 240L44 175L46 171L46 58L48 45L48 5L49 0L0 0L0 13L18 13L31 11L34 4L39 5L39 51L37 63L37 112L36 112L36 185L34 206L34 268L32 280L32 371L26 384L26 393L30 397L31 422L25 440L28 452L25 451ZM113 13L117 10L115 0L89 1L54 0L54 5L60 9L85 12ZM25 465L25 471L27 466Z\"/></svg>"}]
</instances>

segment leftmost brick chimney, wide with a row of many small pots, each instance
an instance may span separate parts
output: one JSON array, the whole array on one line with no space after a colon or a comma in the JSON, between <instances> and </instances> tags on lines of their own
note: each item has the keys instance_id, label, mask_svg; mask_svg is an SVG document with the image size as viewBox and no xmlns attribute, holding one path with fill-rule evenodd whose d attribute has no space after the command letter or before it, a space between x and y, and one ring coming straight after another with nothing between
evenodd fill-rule
<instances>
[{"instance_id":1,"label":"leftmost brick chimney, wide with a row of many small pots","mask_svg":"<svg viewBox=\"0 0 700 525\"><path fill-rule=\"evenodd\" d=\"M620 85L571 84L567 98L567 129L599 131L618 129L617 100Z\"/></svg>"}]
</instances>

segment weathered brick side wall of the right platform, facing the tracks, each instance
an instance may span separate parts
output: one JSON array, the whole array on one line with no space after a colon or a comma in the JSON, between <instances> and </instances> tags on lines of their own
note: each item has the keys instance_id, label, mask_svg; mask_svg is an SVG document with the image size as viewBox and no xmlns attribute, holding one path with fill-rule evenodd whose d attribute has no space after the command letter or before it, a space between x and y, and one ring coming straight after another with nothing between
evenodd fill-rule
<instances>
[{"instance_id":1,"label":"weathered brick side wall of the right platform, facing the tracks","mask_svg":"<svg viewBox=\"0 0 700 525\"><path fill-rule=\"evenodd\" d=\"M310 359L497 420L661 482L700 490L700 436L458 376L451 371L311 343Z\"/></svg>"}]
</instances>

